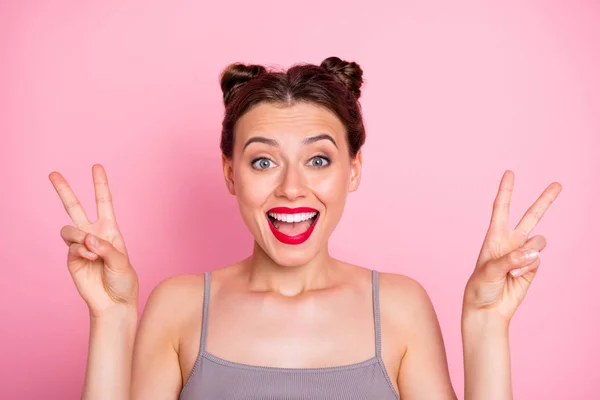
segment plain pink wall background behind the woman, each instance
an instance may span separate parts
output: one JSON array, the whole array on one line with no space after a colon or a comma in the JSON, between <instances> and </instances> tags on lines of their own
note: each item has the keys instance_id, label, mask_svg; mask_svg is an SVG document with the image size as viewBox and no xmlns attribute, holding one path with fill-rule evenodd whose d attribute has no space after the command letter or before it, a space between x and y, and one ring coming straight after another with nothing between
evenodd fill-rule
<instances>
[{"instance_id":1,"label":"plain pink wall background behind the woman","mask_svg":"<svg viewBox=\"0 0 600 400\"><path fill-rule=\"evenodd\" d=\"M600 5L208 3L0 5L0 398L75 399L83 382L87 309L48 173L95 215L105 165L143 305L165 277L251 249L220 170L221 69L331 55L364 68L368 130L333 253L428 289L462 398L462 291L500 177L515 171L515 223L561 182L511 326L515 398L600 398Z\"/></svg>"}]
</instances>

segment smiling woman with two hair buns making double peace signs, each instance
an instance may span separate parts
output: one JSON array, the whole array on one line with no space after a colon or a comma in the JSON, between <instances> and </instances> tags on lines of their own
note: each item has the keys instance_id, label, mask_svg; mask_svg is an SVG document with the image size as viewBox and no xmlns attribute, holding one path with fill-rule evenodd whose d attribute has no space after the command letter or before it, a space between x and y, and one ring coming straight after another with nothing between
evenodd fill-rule
<instances>
[{"instance_id":1,"label":"smiling woman with two hair buns making double peace signs","mask_svg":"<svg viewBox=\"0 0 600 400\"><path fill-rule=\"evenodd\" d=\"M252 233L234 265L161 282L137 328L138 281L107 177L91 223L50 174L74 226L61 236L90 310L85 399L455 399L442 335L414 280L332 258L328 239L361 178L362 71L336 57L221 77L223 173ZM529 238L561 186L515 229L507 171L463 303L466 399L509 399L508 325L540 265ZM135 343L135 346L134 346Z\"/></svg>"}]
</instances>

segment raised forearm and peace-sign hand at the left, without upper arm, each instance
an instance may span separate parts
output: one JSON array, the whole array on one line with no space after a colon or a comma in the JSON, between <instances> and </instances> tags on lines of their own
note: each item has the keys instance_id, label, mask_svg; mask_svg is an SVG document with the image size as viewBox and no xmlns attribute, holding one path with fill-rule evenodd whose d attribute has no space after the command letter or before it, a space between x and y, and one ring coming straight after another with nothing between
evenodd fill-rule
<instances>
[{"instance_id":1,"label":"raised forearm and peace-sign hand at the left, without upper arm","mask_svg":"<svg viewBox=\"0 0 600 400\"><path fill-rule=\"evenodd\" d=\"M129 400L131 358L137 325L138 279L129 261L101 165L92 167L98 219L91 222L67 180L52 182L73 225L60 235L67 268L90 312L90 342L83 400Z\"/></svg>"}]
</instances>

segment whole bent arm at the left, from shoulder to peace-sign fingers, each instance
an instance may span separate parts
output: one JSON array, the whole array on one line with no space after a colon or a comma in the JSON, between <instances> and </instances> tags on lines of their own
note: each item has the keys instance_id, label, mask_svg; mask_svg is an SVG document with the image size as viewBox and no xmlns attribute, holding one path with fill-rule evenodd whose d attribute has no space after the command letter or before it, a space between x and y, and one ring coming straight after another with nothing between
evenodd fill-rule
<instances>
[{"instance_id":1,"label":"whole bent arm at the left, from shoulder to peace-sign fingers","mask_svg":"<svg viewBox=\"0 0 600 400\"><path fill-rule=\"evenodd\" d=\"M178 349L184 317L196 317L198 278L172 278L152 292L137 331L138 279L114 213L108 178L92 167L98 219L91 222L66 179L52 182L74 226L61 229L67 267L90 311L90 343L83 400L177 399ZM203 277L200 278L203 281ZM200 288L203 287L202 285ZM199 301L195 297L200 293ZM187 314L186 314L187 313Z\"/></svg>"}]
</instances>

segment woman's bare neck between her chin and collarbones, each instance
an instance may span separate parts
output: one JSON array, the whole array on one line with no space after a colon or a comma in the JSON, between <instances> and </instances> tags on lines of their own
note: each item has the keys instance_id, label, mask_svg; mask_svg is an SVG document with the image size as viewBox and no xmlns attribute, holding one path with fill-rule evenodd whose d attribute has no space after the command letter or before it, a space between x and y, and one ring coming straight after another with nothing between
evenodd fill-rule
<instances>
[{"instance_id":1,"label":"woman's bare neck between her chin and collarbones","mask_svg":"<svg viewBox=\"0 0 600 400\"><path fill-rule=\"evenodd\" d=\"M331 270L336 264L327 247L308 263L298 266L277 264L255 242L252 255L245 261L251 290L275 292L286 297L331 286Z\"/></svg>"}]
</instances>

